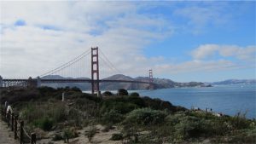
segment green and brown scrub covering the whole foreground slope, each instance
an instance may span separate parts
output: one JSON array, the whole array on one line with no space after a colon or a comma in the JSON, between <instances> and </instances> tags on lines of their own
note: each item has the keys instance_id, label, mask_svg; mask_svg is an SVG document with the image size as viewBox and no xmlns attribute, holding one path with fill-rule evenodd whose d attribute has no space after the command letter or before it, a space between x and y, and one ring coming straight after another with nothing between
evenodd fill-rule
<instances>
[{"instance_id":1,"label":"green and brown scrub covering the whole foreground slope","mask_svg":"<svg viewBox=\"0 0 256 144\"><path fill-rule=\"evenodd\" d=\"M66 101L61 101L65 92ZM119 128L112 141L125 143L256 143L256 121L245 114L217 117L207 112L190 111L169 101L128 94L105 92L102 98L84 94L77 88L1 89L0 100L9 101L15 113L26 122L27 130L57 130L53 141L68 142L84 127L89 141L96 128ZM40 136L38 136L40 139Z\"/></svg>"}]
</instances>

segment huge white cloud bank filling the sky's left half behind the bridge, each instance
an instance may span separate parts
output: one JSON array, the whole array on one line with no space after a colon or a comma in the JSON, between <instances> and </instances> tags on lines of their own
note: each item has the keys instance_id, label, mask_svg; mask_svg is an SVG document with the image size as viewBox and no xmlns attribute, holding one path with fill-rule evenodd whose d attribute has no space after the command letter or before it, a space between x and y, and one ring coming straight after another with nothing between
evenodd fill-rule
<instances>
[{"instance_id":1,"label":"huge white cloud bank filling the sky's left half behind the bridge","mask_svg":"<svg viewBox=\"0 0 256 144\"><path fill-rule=\"evenodd\" d=\"M36 77L98 46L124 74L148 75L155 58L139 60L143 47L171 35L172 28L137 9L136 3L126 2L1 2L0 73ZM26 25L15 26L17 20ZM102 78L111 72L102 65L104 69ZM90 66L86 71L90 73Z\"/></svg>"}]
</instances>

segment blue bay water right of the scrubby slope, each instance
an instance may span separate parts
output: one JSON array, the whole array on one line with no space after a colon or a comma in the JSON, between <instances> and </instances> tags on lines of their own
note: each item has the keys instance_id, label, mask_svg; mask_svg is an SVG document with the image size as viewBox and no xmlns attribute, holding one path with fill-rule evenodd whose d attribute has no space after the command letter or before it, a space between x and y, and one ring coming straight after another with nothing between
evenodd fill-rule
<instances>
[{"instance_id":1,"label":"blue bay water right of the scrubby slope","mask_svg":"<svg viewBox=\"0 0 256 144\"><path fill-rule=\"evenodd\" d=\"M247 112L247 118L256 118L256 84L214 85L209 88L174 88L140 90L140 95L170 101L186 108L200 107L213 112L236 115Z\"/></svg>"}]
</instances>

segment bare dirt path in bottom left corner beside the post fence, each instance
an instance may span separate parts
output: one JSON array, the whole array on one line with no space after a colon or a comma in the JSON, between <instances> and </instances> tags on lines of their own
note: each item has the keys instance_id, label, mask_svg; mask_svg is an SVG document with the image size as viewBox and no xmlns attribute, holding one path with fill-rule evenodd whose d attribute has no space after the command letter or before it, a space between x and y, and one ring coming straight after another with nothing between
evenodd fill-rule
<instances>
[{"instance_id":1,"label":"bare dirt path in bottom left corner beside the post fence","mask_svg":"<svg viewBox=\"0 0 256 144\"><path fill-rule=\"evenodd\" d=\"M18 144L15 141L14 133L8 128L8 125L0 119L0 143L1 144Z\"/></svg>"}]
</instances>

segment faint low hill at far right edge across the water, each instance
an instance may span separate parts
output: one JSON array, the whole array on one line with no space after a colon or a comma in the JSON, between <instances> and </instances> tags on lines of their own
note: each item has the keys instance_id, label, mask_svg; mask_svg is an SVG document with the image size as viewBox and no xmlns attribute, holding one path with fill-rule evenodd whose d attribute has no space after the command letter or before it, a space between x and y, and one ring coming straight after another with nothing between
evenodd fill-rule
<instances>
[{"instance_id":1,"label":"faint low hill at far right edge across the water","mask_svg":"<svg viewBox=\"0 0 256 144\"><path fill-rule=\"evenodd\" d=\"M220 82L210 83L213 85L221 85L221 84L256 84L256 79L227 79Z\"/></svg>"}]
</instances>

